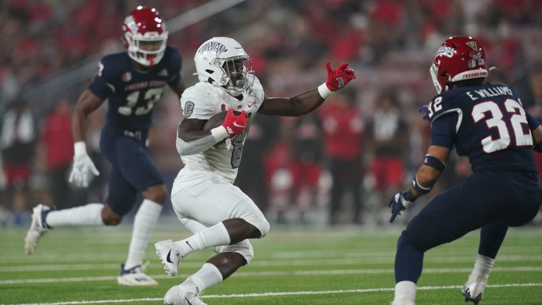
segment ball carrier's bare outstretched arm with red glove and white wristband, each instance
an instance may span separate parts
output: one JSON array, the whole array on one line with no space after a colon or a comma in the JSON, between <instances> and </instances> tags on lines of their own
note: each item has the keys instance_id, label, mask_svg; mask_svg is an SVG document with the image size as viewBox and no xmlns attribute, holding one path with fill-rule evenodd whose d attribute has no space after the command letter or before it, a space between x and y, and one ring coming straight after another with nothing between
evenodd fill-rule
<instances>
[{"instance_id":1,"label":"ball carrier's bare outstretched arm with red glove and white wristband","mask_svg":"<svg viewBox=\"0 0 542 305\"><path fill-rule=\"evenodd\" d=\"M348 63L342 63L337 69L332 69L331 63L327 62L326 68L327 79L325 83L292 98L268 98L265 96L258 113L292 117L310 113L323 104L332 93L344 88L351 80L356 79L356 73L348 67Z\"/></svg>"}]
</instances>

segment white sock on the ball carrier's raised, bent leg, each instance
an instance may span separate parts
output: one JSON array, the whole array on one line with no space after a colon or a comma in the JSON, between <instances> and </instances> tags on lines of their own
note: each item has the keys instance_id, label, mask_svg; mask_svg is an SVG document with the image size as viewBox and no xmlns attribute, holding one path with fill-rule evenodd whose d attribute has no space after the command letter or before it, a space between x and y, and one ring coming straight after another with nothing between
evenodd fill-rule
<instances>
[{"instance_id":1,"label":"white sock on the ball carrier's raised, bent leg","mask_svg":"<svg viewBox=\"0 0 542 305\"><path fill-rule=\"evenodd\" d=\"M224 223L217 223L212 227L208 227L197 232L193 236L175 242L175 245L180 248L183 257L187 256L196 250L203 250L208 247L216 247L222 245L230 245L230 234L224 227Z\"/></svg>"}]
</instances>

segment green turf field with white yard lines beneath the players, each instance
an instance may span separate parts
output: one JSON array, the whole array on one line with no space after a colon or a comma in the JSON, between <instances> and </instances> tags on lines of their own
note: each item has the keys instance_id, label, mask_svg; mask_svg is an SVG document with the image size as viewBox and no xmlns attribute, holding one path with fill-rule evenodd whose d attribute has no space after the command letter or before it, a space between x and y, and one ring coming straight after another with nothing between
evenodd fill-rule
<instances>
[{"instance_id":1,"label":"green turf field with white yard lines beneath the players","mask_svg":"<svg viewBox=\"0 0 542 305\"><path fill-rule=\"evenodd\" d=\"M168 278L149 245L153 287L116 283L126 258L129 225L56 229L32 256L23 229L0 229L0 304L162 304L162 297L211 255L193 253ZM393 258L401 227L272 228L254 240L255 257L208 289L208 304L389 304ZM151 242L188 235L162 224ZM459 287L473 267L478 232L426 253L417 304L464 304ZM472 304L472 303L470 303ZM510 229L490 276L483 304L542 304L542 228Z\"/></svg>"}]
</instances>

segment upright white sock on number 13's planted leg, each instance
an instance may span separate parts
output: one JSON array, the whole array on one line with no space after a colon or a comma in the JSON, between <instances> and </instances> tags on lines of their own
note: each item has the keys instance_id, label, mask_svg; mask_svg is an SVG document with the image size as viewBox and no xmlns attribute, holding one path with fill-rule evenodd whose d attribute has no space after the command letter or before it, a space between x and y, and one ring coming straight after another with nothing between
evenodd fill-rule
<instances>
[{"instance_id":1,"label":"upright white sock on number 13's planted leg","mask_svg":"<svg viewBox=\"0 0 542 305\"><path fill-rule=\"evenodd\" d=\"M149 244L149 236L158 216L162 212L162 205L149 199L144 199L133 218L132 237L130 240L130 249L128 258L124 263L124 269L131 269L138 264L142 264L145 249Z\"/></svg>"}]
</instances>

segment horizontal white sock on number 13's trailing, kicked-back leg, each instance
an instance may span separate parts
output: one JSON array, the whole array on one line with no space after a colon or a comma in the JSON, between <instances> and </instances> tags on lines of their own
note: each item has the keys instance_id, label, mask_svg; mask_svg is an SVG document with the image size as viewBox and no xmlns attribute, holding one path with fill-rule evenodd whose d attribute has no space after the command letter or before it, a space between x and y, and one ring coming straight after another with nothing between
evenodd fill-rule
<instances>
[{"instance_id":1,"label":"horizontal white sock on number 13's trailing, kicked-back leg","mask_svg":"<svg viewBox=\"0 0 542 305\"><path fill-rule=\"evenodd\" d=\"M102 209L102 203L88 203L82 207L52 210L47 213L45 223L50 227L105 225L102 221Z\"/></svg>"}]
</instances>

